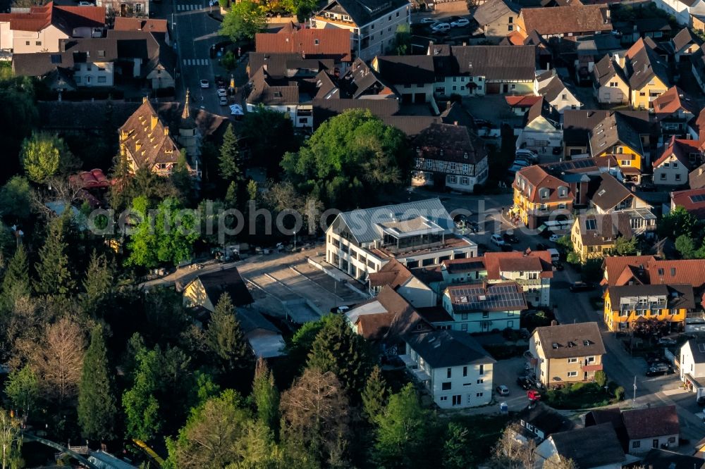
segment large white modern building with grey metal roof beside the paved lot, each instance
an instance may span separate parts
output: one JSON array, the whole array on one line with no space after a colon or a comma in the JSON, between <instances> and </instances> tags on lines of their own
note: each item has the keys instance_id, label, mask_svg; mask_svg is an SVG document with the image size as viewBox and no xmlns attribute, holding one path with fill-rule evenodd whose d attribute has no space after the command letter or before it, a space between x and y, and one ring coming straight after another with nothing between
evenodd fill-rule
<instances>
[{"instance_id":1,"label":"large white modern building with grey metal roof beside the paved lot","mask_svg":"<svg viewBox=\"0 0 705 469\"><path fill-rule=\"evenodd\" d=\"M391 259L414 268L476 256L440 199L340 213L326 230L326 261L358 280Z\"/></svg>"}]
</instances>

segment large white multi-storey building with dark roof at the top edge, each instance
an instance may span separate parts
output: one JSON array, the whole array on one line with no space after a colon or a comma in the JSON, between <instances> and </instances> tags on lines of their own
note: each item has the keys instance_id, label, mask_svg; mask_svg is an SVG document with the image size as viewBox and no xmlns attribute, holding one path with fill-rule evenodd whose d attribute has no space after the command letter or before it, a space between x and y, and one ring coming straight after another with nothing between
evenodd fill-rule
<instances>
[{"instance_id":1,"label":"large white multi-storey building with dark roof at the top edge","mask_svg":"<svg viewBox=\"0 0 705 469\"><path fill-rule=\"evenodd\" d=\"M350 31L350 49L370 61L391 49L400 26L411 24L411 5L404 0L331 0L314 13L312 27Z\"/></svg>"}]
</instances>

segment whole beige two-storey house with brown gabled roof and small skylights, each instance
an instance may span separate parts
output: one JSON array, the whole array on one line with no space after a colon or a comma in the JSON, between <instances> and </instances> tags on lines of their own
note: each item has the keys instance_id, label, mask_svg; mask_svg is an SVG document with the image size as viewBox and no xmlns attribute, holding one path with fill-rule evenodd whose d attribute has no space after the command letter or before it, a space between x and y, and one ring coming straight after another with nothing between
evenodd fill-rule
<instances>
[{"instance_id":1,"label":"whole beige two-storey house with brown gabled roof and small skylights","mask_svg":"<svg viewBox=\"0 0 705 469\"><path fill-rule=\"evenodd\" d=\"M527 365L545 387L594 380L605 346L597 323L537 327L529 337Z\"/></svg>"}]
</instances>

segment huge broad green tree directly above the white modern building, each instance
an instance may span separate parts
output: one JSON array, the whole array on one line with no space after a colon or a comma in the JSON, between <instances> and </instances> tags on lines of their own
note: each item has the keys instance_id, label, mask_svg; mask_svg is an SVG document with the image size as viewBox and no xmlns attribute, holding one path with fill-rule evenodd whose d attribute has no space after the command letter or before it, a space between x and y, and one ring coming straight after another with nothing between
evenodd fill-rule
<instances>
[{"instance_id":1,"label":"huge broad green tree directly above the white modern building","mask_svg":"<svg viewBox=\"0 0 705 469\"><path fill-rule=\"evenodd\" d=\"M405 181L410 170L406 136L369 110L352 109L326 120L281 167L302 194L326 206L349 208Z\"/></svg>"}]
</instances>

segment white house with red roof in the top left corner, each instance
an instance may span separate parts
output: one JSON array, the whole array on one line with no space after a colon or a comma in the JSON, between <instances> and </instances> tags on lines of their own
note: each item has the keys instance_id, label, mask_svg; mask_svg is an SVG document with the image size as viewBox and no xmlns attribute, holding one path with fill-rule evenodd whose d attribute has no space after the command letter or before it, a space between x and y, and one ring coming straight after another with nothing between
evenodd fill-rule
<instances>
[{"instance_id":1,"label":"white house with red roof in the top left corner","mask_svg":"<svg viewBox=\"0 0 705 469\"><path fill-rule=\"evenodd\" d=\"M43 6L12 8L0 13L0 51L12 54L59 52L60 39L101 37L105 8L101 6Z\"/></svg>"}]
</instances>

